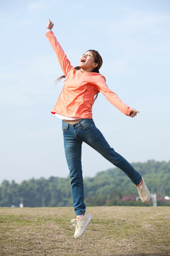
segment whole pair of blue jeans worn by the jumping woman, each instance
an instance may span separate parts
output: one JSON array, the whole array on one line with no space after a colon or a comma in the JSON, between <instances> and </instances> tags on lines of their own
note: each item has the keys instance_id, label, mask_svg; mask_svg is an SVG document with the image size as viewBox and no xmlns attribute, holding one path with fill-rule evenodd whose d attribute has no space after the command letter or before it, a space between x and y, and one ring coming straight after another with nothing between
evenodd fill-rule
<instances>
[{"instance_id":1,"label":"whole pair of blue jeans worn by the jumping woman","mask_svg":"<svg viewBox=\"0 0 170 256\"><path fill-rule=\"evenodd\" d=\"M82 142L86 142L86 144L98 151L108 161L124 171L136 185L142 180L140 174L133 169L128 161L109 146L103 134L96 128L93 119L82 119L77 124L68 124L62 121L62 130L76 215L80 215L86 210L84 204L84 181L81 168Z\"/></svg>"}]
</instances>

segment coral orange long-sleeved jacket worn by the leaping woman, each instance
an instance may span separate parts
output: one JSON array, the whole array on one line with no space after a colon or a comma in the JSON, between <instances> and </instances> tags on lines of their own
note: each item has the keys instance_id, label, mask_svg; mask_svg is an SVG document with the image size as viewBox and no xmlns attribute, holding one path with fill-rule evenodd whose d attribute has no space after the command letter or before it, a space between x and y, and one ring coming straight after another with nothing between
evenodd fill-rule
<instances>
[{"instance_id":1,"label":"coral orange long-sleeved jacket worn by the leaping woman","mask_svg":"<svg viewBox=\"0 0 170 256\"><path fill-rule=\"evenodd\" d=\"M75 70L70 64L67 55L58 43L52 31L46 33L52 48L57 54L62 71L66 77L60 97L52 109L52 114L61 114L64 117L72 118L92 118L92 106L94 96L102 92L106 99L126 115L132 109L125 105L106 85L106 78L93 72L82 73Z\"/></svg>"}]
</instances>

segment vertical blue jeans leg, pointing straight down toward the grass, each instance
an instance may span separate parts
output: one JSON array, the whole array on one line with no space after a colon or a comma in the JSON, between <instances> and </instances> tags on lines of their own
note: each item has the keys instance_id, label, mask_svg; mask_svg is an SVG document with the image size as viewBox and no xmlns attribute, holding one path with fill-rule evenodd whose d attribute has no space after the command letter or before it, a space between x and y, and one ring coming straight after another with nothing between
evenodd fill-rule
<instances>
[{"instance_id":1,"label":"vertical blue jeans leg, pointing straight down toward the grass","mask_svg":"<svg viewBox=\"0 0 170 256\"><path fill-rule=\"evenodd\" d=\"M75 137L72 125L63 122L64 151L69 166L69 176L71 178L72 198L76 215L85 212L84 204L84 181L81 169L81 144ZM66 128L67 127L67 128Z\"/></svg>"}]
</instances>

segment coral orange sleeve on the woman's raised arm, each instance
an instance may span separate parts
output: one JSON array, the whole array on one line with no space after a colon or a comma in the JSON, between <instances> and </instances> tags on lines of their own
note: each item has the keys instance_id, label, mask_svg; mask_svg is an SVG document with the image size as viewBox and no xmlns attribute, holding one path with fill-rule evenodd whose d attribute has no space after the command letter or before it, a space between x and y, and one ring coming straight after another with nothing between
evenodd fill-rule
<instances>
[{"instance_id":1,"label":"coral orange sleeve on the woman's raised arm","mask_svg":"<svg viewBox=\"0 0 170 256\"><path fill-rule=\"evenodd\" d=\"M62 68L62 71L65 75L74 69L73 66L70 64L67 55L65 55L64 50L62 50L62 46L60 46L60 43L57 41L55 34L52 31L49 31L45 34L47 36L48 40L50 41L50 44L52 48L55 50L55 53L57 55L57 58L59 60L60 66Z\"/></svg>"}]
</instances>

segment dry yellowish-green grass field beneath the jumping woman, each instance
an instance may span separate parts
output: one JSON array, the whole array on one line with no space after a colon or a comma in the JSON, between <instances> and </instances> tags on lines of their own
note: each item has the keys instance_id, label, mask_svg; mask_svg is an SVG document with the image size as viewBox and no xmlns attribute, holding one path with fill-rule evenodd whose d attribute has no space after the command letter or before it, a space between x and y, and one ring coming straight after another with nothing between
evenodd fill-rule
<instances>
[{"instance_id":1,"label":"dry yellowish-green grass field beneath the jumping woman","mask_svg":"<svg viewBox=\"0 0 170 256\"><path fill-rule=\"evenodd\" d=\"M89 207L74 239L73 208L0 208L0 255L170 255L169 207Z\"/></svg>"}]
</instances>

